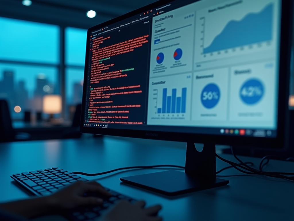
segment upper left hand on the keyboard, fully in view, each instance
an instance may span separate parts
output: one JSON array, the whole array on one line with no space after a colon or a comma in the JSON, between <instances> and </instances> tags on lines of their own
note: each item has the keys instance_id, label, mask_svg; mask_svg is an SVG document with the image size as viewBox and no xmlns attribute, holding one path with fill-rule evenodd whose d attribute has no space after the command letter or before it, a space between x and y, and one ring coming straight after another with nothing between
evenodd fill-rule
<instances>
[{"instance_id":1,"label":"upper left hand on the keyboard, fully in view","mask_svg":"<svg viewBox=\"0 0 294 221\"><path fill-rule=\"evenodd\" d=\"M58 209L72 209L81 205L101 205L103 203L103 199L99 197L83 197L86 192L95 192L104 197L111 196L97 182L77 181L48 196L48 202Z\"/></svg>"}]
</instances>

